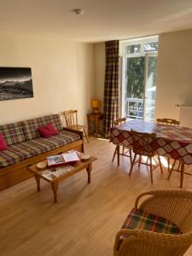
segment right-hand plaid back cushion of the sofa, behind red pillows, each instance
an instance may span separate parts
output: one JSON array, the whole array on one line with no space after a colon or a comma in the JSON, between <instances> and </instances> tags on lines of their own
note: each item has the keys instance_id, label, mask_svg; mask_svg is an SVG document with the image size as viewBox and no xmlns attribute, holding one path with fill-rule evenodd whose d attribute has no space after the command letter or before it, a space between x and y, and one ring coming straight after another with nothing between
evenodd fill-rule
<instances>
[{"instance_id":1,"label":"right-hand plaid back cushion of the sofa, behind red pillows","mask_svg":"<svg viewBox=\"0 0 192 256\"><path fill-rule=\"evenodd\" d=\"M28 119L20 122L26 140L40 137L40 135L38 134L38 127L41 125L46 125L48 123L52 123L53 125L55 125L55 128L58 131L61 131L63 128L63 125L61 123L61 117L59 114L46 115L36 119Z\"/></svg>"}]
</instances>

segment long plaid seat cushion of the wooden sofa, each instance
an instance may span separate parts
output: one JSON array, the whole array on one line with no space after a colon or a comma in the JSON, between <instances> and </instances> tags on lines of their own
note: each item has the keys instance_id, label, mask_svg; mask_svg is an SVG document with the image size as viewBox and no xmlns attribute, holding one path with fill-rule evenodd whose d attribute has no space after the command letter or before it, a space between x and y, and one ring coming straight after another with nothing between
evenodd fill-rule
<instances>
[{"instance_id":1,"label":"long plaid seat cushion of the wooden sofa","mask_svg":"<svg viewBox=\"0 0 192 256\"><path fill-rule=\"evenodd\" d=\"M38 137L22 143L10 145L8 150L0 152L0 167L11 166L29 157L48 152L78 140L78 134L61 131L59 135L44 138Z\"/></svg>"}]
</instances>

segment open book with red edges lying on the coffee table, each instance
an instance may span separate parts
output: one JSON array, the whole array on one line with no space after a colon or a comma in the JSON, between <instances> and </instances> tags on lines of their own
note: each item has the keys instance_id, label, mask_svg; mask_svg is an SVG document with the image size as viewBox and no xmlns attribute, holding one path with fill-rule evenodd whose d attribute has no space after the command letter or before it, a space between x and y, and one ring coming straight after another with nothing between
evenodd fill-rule
<instances>
[{"instance_id":1,"label":"open book with red edges lying on the coffee table","mask_svg":"<svg viewBox=\"0 0 192 256\"><path fill-rule=\"evenodd\" d=\"M68 151L63 154L55 154L47 157L49 167L62 166L67 163L79 161L79 154L76 151Z\"/></svg>"}]
</instances>

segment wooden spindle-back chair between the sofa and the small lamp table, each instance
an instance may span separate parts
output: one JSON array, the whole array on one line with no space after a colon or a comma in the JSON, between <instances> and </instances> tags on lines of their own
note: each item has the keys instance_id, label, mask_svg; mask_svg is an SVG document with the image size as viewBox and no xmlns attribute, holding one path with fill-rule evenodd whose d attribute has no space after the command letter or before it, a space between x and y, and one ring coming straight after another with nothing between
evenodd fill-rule
<instances>
[{"instance_id":1,"label":"wooden spindle-back chair between the sofa and the small lamp table","mask_svg":"<svg viewBox=\"0 0 192 256\"><path fill-rule=\"evenodd\" d=\"M89 143L89 139L87 133L85 131L85 125L79 125L78 123L78 110L67 110L63 112L63 117L65 119L66 126L70 129L76 131L83 131L84 136L86 137L87 143Z\"/></svg>"}]
</instances>

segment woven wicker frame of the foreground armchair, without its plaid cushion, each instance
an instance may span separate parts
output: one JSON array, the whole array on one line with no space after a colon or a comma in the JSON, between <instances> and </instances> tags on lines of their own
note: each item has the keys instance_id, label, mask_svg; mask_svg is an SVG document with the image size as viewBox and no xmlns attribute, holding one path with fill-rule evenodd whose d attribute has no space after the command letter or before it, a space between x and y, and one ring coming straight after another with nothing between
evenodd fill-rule
<instances>
[{"instance_id":1,"label":"woven wicker frame of the foreground armchair, without its plaid cushion","mask_svg":"<svg viewBox=\"0 0 192 256\"><path fill-rule=\"evenodd\" d=\"M138 202L146 195L148 198L138 207ZM180 256L192 244L192 192L149 191L137 197L135 208L171 221L181 232L175 235L154 230L122 229L116 236L113 256Z\"/></svg>"}]
</instances>

